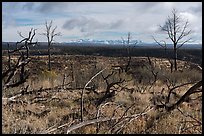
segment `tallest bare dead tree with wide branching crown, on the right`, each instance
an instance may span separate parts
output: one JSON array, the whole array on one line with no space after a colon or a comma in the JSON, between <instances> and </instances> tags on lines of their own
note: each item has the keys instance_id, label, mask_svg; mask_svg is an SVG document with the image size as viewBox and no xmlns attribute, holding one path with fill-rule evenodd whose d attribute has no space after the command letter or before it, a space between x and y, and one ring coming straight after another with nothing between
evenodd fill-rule
<instances>
[{"instance_id":1,"label":"tallest bare dead tree with wide branching crown, on the right","mask_svg":"<svg viewBox=\"0 0 204 136\"><path fill-rule=\"evenodd\" d=\"M183 23L183 19L175 9L172 10L172 16L168 16L165 24L160 26L161 31L167 33L173 43L175 71L177 71L177 50L192 39L189 38L192 30L188 30L188 27L188 20Z\"/></svg>"}]
</instances>

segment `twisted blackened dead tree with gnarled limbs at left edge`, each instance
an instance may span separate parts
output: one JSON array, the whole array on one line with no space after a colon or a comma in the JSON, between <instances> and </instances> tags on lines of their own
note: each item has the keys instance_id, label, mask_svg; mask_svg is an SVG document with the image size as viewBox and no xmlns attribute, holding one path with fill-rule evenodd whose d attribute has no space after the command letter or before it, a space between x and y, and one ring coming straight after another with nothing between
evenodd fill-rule
<instances>
[{"instance_id":1,"label":"twisted blackened dead tree with gnarled limbs at left edge","mask_svg":"<svg viewBox=\"0 0 204 136\"><path fill-rule=\"evenodd\" d=\"M36 34L35 31L36 29L31 29L28 37L24 37L18 32L23 40L16 43L16 49L14 50L10 50L10 45L8 44L8 68L2 71L3 89L19 86L28 79L29 73L25 66L30 62L29 46L37 44L37 42L33 42L33 38ZM13 54L18 55L16 62L11 59L11 55Z\"/></svg>"}]
</instances>

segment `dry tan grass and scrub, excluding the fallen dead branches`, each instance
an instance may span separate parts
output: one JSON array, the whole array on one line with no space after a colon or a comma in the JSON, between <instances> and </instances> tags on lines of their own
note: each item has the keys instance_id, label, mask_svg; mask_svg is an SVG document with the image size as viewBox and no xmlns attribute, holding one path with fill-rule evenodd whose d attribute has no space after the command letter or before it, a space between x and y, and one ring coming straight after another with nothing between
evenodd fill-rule
<instances>
[{"instance_id":1,"label":"dry tan grass and scrub, excluding the fallen dead branches","mask_svg":"<svg viewBox=\"0 0 204 136\"><path fill-rule=\"evenodd\" d=\"M46 57L38 57L30 65L29 69L31 74L30 79L22 86L18 88L11 88L4 90L3 97L12 96L14 92L19 92L21 87L29 85L28 90L42 88L52 88L57 85L62 85L64 74L68 75L66 83L70 83L67 88L60 88L56 90L48 90L40 92L35 95L25 95L21 97L21 101L16 103L5 104L2 107L2 133L27 133L27 134L38 134L45 130L51 130L60 125L68 123L68 126L77 124L80 122L80 96L82 89L86 82L104 66L108 69L103 72L104 75L111 73L111 66L124 65L126 64L125 58L109 58L109 57L91 57L91 56L53 56L53 69L51 72L47 71ZM169 78L169 81L176 82L175 85L186 83L189 81L196 82L202 78L201 72L187 69L183 72L170 73L167 68L166 71L160 70L159 80L150 89L145 90L143 93L138 91L138 87L148 86L148 79L151 78L148 70L144 70L139 66L148 64L145 61L146 58L132 58L132 67L130 73L118 73L113 75L109 82L118 81L120 78L126 79L127 81L118 87L114 97L107 99L104 103L110 103L105 105L100 110L100 117L114 117L120 118L128 107L134 104L125 115L131 116L133 114L141 113L148 105L153 106L152 99L160 96L167 96L168 88L165 82L165 75ZM152 59L154 60L154 59ZM167 62L154 60L157 65L167 65ZM63 63L62 63L63 62ZM72 64L72 67L70 66ZM180 66L184 62L180 62ZM185 63L186 65L186 63ZM38 66L38 67L37 67ZM138 75L140 73L144 78L143 84L138 84ZM161 74L162 73L162 74ZM72 75L73 74L73 75ZM139 76L140 76L139 75ZM176 81L175 81L176 80ZM99 94L85 91L84 95L84 119L90 120L96 118L97 110L96 102L104 95L106 89L106 83L101 76L98 76L93 80L91 85L96 86L96 91ZM150 86L150 85L149 85ZM183 95L192 84L176 89L178 95ZM161 90L164 88L163 93ZM119 91L120 90L120 91ZM197 98L200 94L191 96L191 99ZM42 98L40 98L42 97ZM175 102L178 98L171 97L170 102ZM26 103L28 102L28 103ZM184 102L180 109L185 114L191 114L196 119L201 120L202 118L202 100L196 99L189 102ZM46 112L47 111L47 112ZM128 121L119 122L114 129L111 127L119 120L111 120L100 123L100 129L97 132L97 124L84 126L76 129L71 133L74 134L90 134L90 133L122 133L122 134L194 134L202 132L202 125L194 126L185 130L187 127L191 127L192 123L186 122L192 120L190 117L185 117L177 109L165 114L161 118L157 119L163 111L152 110L144 116L139 116ZM45 113L45 114L43 114ZM127 123L127 124L126 124ZM196 122L193 122L194 125ZM117 130L126 124L123 129ZM68 126L61 127L50 133L66 133Z\"/></svg>"}]
</instances>

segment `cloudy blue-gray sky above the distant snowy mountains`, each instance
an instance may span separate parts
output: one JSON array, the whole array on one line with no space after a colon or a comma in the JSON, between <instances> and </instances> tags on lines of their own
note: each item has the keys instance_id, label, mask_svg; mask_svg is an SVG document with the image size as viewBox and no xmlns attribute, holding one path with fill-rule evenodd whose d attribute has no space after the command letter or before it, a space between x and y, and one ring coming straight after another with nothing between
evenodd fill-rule
<instances>
[{"instance_id":1,"label":"cloudy blue-gray sky above the distant snowy mountains","mask_svg":"<svg viewBox=\"0 0 204 136\"><path fill-rule=\"evenodd\" d=\"M2 40L19 41L17 31L27 35L37 29L36 39L45 31L45 21L53 20L56 42L77 39L121 40L130 32L132 39L152 43L154 36L166 40L159 25L164 24L175 8L184 20L189 20L194 43L202 43L201 2L4 2L2 3Z\"/></svg>"}]
</instances>

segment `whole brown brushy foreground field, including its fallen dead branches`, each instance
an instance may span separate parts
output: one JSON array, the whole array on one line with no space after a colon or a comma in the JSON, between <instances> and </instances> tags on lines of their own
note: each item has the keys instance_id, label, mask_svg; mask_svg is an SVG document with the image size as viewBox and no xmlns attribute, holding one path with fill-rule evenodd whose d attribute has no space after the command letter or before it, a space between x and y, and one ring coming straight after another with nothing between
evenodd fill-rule
<instances>
[{"instance_id":1,"label":"whole brown brushy foreground field, including its fallen dead branches","mask_svg":"<svg viewBox=\"0 0 204 136\"><path fill-rule=\"evenodd\" d=\"M66 55L48 71L47 56L30 59L26 82L3 89L3 133L202 133L202 70L193 63L171 72L166 59L132 57L125 71L125 57Z\"/></svg>"}]
</instances>

